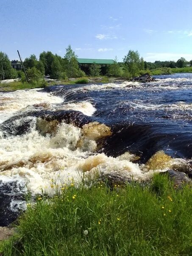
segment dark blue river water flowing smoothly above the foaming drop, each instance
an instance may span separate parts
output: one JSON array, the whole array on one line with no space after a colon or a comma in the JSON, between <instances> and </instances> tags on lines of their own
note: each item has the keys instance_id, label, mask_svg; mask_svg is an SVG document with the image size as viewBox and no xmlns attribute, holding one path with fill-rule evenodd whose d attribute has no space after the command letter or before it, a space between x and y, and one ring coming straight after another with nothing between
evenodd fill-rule
<instances>
[{"instance_id":1,"label":"dark blue river water flowing smoothly above the foaming drop","mask_svg":"<svg viewBox=\"0 0 192 256\"><path fill-rule=\"evenodd\" d=\"M104 152L118 156L127 150L145 160L157 150L170 156L192 157L192 74L157 76L159 81L116 88L52 86L45 89L67 102L89 101L92 119L112 128ZM129 86L129 85L128 85ZM88 88L88 89L86 89Z\"/></svg>"}]
</instances>

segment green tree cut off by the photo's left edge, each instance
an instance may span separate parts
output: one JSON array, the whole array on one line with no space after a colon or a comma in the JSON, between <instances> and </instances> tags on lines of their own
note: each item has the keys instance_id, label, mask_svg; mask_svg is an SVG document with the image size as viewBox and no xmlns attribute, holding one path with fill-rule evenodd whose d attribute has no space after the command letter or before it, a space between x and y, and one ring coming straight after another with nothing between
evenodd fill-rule
<instances>
[{"instance_id":1,"label":"green tree cut off by the photo's left edge","mask_svg":"<svg viewBox=\"0 0 192 256\"><path fill-rule=\"evenodd\" d=\"M0 52L0 80L11 78L11 62L6 53Z\"/></svg>"}]
</instances>

